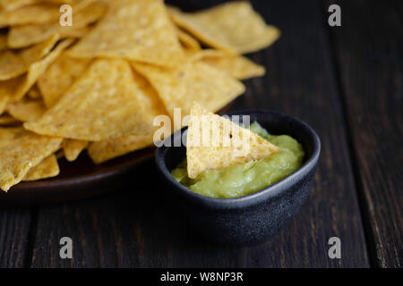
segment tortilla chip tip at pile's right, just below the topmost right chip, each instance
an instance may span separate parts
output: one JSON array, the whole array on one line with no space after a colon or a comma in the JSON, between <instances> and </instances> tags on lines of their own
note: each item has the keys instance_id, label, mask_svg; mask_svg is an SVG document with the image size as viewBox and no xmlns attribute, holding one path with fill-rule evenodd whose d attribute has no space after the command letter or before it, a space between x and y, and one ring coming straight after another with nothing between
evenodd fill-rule
<instances>
[{"instance_id":1,"label":"tortilla chip tip at pile's right, just below the topmost right chip","mask_svg":"<svg viewBox=\"0 0 403 286\"><path fill-rule=\"evenodd\" d=\"M201 61L238 80L260 77L266 73L264 66L253 63L242 55L206 56Z\"/></svg>"}]
</instances>

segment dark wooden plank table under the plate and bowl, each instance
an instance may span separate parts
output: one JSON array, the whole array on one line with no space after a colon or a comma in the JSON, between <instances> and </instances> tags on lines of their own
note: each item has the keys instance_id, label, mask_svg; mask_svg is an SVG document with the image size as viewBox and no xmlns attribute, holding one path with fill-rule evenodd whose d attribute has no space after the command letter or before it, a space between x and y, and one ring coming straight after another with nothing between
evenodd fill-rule
<instances>
[{"instance_id":1,"label":"dark wooden plank table under the plate and bowl","mask_svg":"<svg viewBox=\"0 0 403 286\"><path fill-rule=\"evenodd\" d=\"M175 2L175 1L172 1ZM217 1L180 1L189 9ZM339 4L342 26L328 25ZM267 67L229 110L267 108L308 122L322 156L308 202L266 243L247 248L193 235L153 162L111 195L0 210L1 267L401 267L403 265L403 1L254 1L282 30L250 55ZM144 180L148 178L148 180ZM59 240L73 239L73 259ZM341 258L328 257L330 237Z\"/></svg>"}]
</instances>

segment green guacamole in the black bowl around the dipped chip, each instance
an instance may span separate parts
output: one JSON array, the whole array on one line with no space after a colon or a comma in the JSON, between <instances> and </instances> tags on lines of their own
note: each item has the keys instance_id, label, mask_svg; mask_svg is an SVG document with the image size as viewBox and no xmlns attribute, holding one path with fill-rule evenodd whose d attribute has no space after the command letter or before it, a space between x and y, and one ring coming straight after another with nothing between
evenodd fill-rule
<instances>
[{"instance_id":1,"label":"green guacamole in the black bowl around the dipped chip","mask_svg":"<svg viewBox=\"0 0 403 286\"><path fill-rule=\"evenodd\" d=\"M304 150L296 139L287 135L270 135L258 122L253 122L250 129L281 150L257 161L236 164L221 170L206 170L196 179L188 178L184 160L172 170L172 176L186 188L203 196L237 198L264 189L301 166Z\"/></svg>"}]
</instances>

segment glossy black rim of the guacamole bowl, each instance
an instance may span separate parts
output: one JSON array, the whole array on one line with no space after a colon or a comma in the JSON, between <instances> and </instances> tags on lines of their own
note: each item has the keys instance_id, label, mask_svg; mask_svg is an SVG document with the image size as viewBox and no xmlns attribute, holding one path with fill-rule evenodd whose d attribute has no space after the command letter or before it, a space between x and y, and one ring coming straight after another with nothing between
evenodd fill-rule
<instances>
[{"instance_id":1,"label":"glossy black rim of the guacamole bowl","mask_svg":"<svg viewBox=\"0 0 403 286\"><path fill-rule=\"evenodd\" d=\"M246 206L252 206L261 203L262 201L267 200L268 198L275 197L279 195L282 191L293 185L296 181L299 181L301 177L304 177L304 174L307 172L310 172L313 167L317 164L319 155L321 153L321 139L319 138L318 134L316 133L315 130L311 126L309 126L306 122L303 122L302 120L290 116L287 114L282 114L277 111L271 111L271 110L262 110L262 109L257 109L257 110L242 110L242 111L235 111L231 113L226 113L226 114L220 114L220 115L244 115L244 114L250 114L250 115L255 115L257 121L259 122L259 115L271 115L271 116L276 116L276 117L281 117L284 120L288 120L291 122L296 122L297 125L300 125L301 127L304 128L304 132L308 134L309 136L312 137L313 139L313 152L311 156L309 156L305 161L302 166L296 170L296 172L293 172L289 174L287 177L281 179L280 181L266 187L263 189L260 189L256 192L253 192L252 194L248 194L242 197L238 198L210 198L207 196L203 196L201 194L198 194L196 192L193 192L191 189L187 189L182 185L180 182L176 181L171 173L167 169L167 164L165 163L165 154L171 147L165 146L163 144L161 147L158 147L156 150L156 155L155 155L155 161L157 164L157 167L159 169L159 172L162 173L162 175L167 179L169 184L173 189L179 190L179 193L183 196L186 196L187 198L190 198L191 200L203 205L203 206L208 206L208 207L214 207L214 208L220 208L220 209L227 209L227 208L239 208L239 207L246 207ZM167 139L164 139L163 142L172 140L172 137L174 134L177 134L179 132L184 132L187 130L187 126L182 128L181 130L176 130L175 133L171 134Z\"/></svg>"}]
</instances>

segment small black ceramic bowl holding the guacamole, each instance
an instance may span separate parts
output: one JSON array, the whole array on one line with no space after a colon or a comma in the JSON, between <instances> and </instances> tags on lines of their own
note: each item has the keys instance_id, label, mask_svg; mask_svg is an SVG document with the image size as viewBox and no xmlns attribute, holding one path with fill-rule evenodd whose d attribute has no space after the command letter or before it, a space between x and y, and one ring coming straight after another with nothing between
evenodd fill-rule
<instances>
[{"instance_id":1,"label":"small black ceramic bowl holding the guacamole","mask_svg":"<svg viewBox=\"0 0 403 286\"><path fill-rule=\"evenodd\" d=\"M185 147L159 147L155 160L168 189L179 200L178 205L182 206L184 217L194 231L219 243L255 244L276 234L303 205L313 185L321 141L310 126L285 114L257 110L227 115L250 115L251 123L259 122L271 134L287 134L297 139L305 152L301 168L251 195L209 198L185 188L170 174L184 160ZM186 130L177 132L183 134ZM173 136L165 143L168 141L173 142Z\"/></svg>"}]
</instances>

